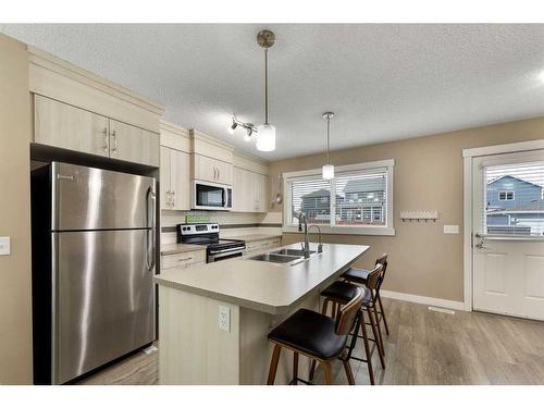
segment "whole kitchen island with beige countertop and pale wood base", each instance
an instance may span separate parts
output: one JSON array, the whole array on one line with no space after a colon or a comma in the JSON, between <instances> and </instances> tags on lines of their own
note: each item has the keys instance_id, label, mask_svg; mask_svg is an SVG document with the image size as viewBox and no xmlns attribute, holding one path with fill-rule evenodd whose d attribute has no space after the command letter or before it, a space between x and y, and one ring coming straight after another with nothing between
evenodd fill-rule
<instances>
[{"instance_id":1,"label":"whole kitchen island with beige countertop and pale wood base","mask_svg":"<svg viewBox=\"0 0 544 408\"><path fill-rule=\"evenodd\" d=\"M301 307L319 310L319 292L369 247L324 244L319 254L312 244L310 249L309 259L289 263L252 260L252 255L157 275L159 382L265 384L270 330ZM307 361L300 361L302 375ZM284 353L276 383L289 381L290 364Z\"/></svg>"}]
</instances>

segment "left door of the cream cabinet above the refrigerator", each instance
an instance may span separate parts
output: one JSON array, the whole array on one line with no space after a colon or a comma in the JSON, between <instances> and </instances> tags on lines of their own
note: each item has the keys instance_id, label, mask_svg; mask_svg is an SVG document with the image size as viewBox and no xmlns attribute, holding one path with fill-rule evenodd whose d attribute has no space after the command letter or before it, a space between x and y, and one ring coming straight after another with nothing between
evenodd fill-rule
<instances>
[{"instance_id":1,"label":"left door of the cream cabinet above the refrigerator","mask_svg":"<svg viewBox=\"0 0 544 408\"><path fill-rule=\"evenodd\" d=\"M36 143L109 157L108 118L40 95L34 106Z\"/></svg>"}]
</instances>

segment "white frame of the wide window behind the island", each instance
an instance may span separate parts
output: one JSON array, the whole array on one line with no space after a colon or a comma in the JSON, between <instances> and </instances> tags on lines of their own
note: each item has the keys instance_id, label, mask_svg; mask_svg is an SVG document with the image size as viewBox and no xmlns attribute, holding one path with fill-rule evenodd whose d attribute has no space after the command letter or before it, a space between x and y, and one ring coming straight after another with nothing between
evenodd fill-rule
<instances>
[{"instance_id":1,"label":"white frame of the wide window behind the island","mask_svg":"<svg viewBox=\"0 0 544 408\"><path fill-rule=\"evenodd\" d=\"M336 178L330 182L330 193L331 193L331 218L329 224L317 224L320 226L324 234L345 234L345 235L395 235L394 228L394 212L393 212L393 186L394 186L394 166L395 160L379 160L357 164L337 165L335 166L335 173L344 172L357 172L357 171L369 171L372 169L385 169L386 173L386 224L385 225L363 225L363 226L349 226L349 225L335 225L336 221ZM284 205L283 205L283 226L282 231L286 233L298 233L298 225L290 224L293 220L292 214L292 187L290 184L296 181L307 181L321 178L321 169L304 170L298 172L287 172L283 173L283 191L284 191ZM362 213L361 213L362 218Z\"/></svg>"}]
</instances>

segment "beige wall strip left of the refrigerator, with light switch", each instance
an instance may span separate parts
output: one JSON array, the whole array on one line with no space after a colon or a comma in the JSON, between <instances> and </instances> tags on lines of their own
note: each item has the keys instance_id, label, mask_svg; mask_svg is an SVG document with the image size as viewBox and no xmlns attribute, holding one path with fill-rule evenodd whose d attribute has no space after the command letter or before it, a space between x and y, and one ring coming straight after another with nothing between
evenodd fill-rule
<instances>
[{"instance_id":1,"label":"beige wall strip left of the refrigerator, with light switch","mask_svg":"<svg viewBox=\"0 0 544 408\"><path fill-rule=\"evenodd\" d=\"M32 383L30 98L26 46L0 35L0 383Z\"/></svg>"}]
</instances>

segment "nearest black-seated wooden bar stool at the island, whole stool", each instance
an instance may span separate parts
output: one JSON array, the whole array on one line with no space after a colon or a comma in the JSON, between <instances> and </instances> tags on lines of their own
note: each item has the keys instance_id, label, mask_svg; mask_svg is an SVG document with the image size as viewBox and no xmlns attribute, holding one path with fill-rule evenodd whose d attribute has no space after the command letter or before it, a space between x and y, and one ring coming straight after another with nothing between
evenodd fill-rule
<instances>
[{"instance_id":1,"label":"nearest black-seated wooden bar stool at the island, whole stool","mask_svg":"<svg viewBox=\"0 0 544 408\"><path fill-rule=\"evenodd\" d=\"M319 361L325 369L325 383L332 383L331 362L341 359L350 385L355 385L354 373L347 358L346 343L354 329L361 309L364 292L357 287L354 297L339 309L336 319L313 310L300 309L269 333L268 338L274 343L274 351L270 361L268 385L274 384L280 353L283 347L293 351L293 380L308 383L298 378L298 356L306 356Z\"/></svg>"}]
</instances>

